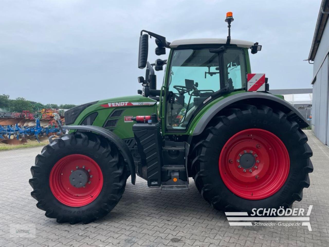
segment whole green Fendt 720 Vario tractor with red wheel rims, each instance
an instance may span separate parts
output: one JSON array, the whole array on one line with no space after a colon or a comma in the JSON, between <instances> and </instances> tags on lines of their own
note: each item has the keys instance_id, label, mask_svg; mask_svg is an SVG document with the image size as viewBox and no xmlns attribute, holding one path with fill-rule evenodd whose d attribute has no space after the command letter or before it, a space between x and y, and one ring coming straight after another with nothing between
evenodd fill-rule
<instances>
[{"instance_id":1,"label":"whole green Fendt 720 Vario tractor with red wheel rims","mask_svg":"<svg viewBox=\"0 0 329 247\"><path fill-rule=\"evenodd\" d=\"M109 213L136 174L149 187L185 191L194 179L215 209L289 208L309 187L312 150L303 116L251 73L257 42L168 42L142 30L135 96L99 100L65 112L66 134L50 140L29 180L37 207L57 222L85 224ZM148 41L167 60L149 63ZM160 90L154 70L165 73ZM129 179L130 180L130 179Z\"/></svg>"}]
</instances>

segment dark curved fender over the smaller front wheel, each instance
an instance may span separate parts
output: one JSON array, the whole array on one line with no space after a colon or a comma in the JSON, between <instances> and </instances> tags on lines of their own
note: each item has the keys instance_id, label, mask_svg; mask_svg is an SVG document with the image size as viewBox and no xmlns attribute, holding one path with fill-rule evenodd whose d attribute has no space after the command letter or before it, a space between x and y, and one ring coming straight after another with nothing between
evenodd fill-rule
<instances>
[{"instance_id":1,"label":"dark curved fender over the smaller front wheel","mask_svg":"<svg viewBox=\"0 0 329 247\"><path fill-rule=\"evenodd\" d=\"M116 147L122 154L124 161L128 163L130 173L131 173L131 183L135 184L136 170L135 170L135 163L134 163L133 157L131 156L131 153L130 153L127 145L117 135L115 135L113 132L111 132L105 128L93 126L93 125L67 125L67 126L63 126L63 129L76 129L76 130L95 132L95 133L107 138L109 141L113 142L114 145L116 145Z\"/></svg>"}]
</instances>

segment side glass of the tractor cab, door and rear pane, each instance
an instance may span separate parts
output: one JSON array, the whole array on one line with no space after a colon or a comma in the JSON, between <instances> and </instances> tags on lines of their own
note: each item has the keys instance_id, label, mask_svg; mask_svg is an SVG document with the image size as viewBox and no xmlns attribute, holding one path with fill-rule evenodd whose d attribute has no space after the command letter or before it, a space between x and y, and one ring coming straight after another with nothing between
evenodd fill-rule
<instances>
[{"instance_id":1,"label":"side glass of the tractor cab, door and rear pane","mask_svg":"<svg viewBox=\"0 0 329 247\"><path fill-rule=\"evenodd\" d=\"M167 128L185 130L193 113L214 92L245 87L246 68L241 48L221 53L209 48L174 50L169 68Z\"/></svg>"}]
</instances>

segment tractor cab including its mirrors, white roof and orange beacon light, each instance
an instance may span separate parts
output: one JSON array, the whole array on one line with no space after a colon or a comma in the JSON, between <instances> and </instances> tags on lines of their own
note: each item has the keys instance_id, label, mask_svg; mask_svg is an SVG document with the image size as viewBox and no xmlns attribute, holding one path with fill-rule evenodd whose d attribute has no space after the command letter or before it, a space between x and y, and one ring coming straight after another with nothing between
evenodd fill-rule
<instances>
[{"instance_id":1,"label":"tractor cab including its mirrors, white roof and orange beacon light","mask_svg":"<svg viewBox=\"0 0 329 247\"><path fill-rule=\"evenodd\" d=\"M173 42L146 30L139 40L139 68L146 67L146 76L139 77L143 90L139 94L160 101L163 131L186 132L191 121L208 103L220 96L236 91L245 91L247 74L250 73L248 49L252 53L261 50L261 45L250 41L231 40L232 13L228 13L229 36L227 39L186 39ZM143 34L144 33L144 34ZM155 53L163 55L170 49L168 60L147 62L148 38L154 37ZM164 83L156 90L155 70L166 64ZM161 96L161 97L160 97Z\"/></svg>"}]
</instances>

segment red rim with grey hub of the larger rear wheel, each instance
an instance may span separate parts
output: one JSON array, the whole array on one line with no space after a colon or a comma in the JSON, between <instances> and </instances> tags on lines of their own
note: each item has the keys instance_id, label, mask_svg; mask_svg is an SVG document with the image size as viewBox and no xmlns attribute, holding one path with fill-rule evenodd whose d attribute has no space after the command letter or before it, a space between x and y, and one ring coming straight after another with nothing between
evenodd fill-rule
<instances>
[{"instance_id":1,"label":"red rim with grey hub of the larger rear wheel","mask_svg":"<svg viewBox=\"0 0 329 247\"><path fill-rule=\"evenodd\" d=\"M260 200L276 193L290 169L283 142L264 129L245 129L232 136L219 156L219 173L239 197Z\"/></svg>"}]
</instances>

